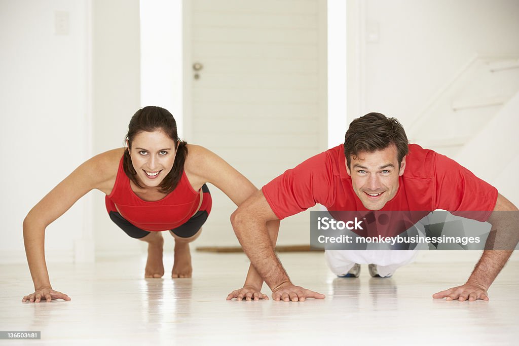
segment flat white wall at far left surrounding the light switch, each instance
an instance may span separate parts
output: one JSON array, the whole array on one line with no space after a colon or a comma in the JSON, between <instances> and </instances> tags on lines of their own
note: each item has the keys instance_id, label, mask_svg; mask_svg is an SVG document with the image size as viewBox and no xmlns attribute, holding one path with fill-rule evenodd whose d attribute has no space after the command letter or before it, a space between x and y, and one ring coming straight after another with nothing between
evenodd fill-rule
<instances>
[{"instance_id":1,"label":"flat white wall at far left surrounding the light switch","mask_svg":"<svg viewBox=\"0 0 519 346\"><path fill-rule=\"evenodd\" d=\"M69 16L57 35L54 11ZM22 221L89 155L88 2L0 1L0 261L24 262ZM47 228L48 261L73 260L86 200Z\"/></svg>"}]
</instances>

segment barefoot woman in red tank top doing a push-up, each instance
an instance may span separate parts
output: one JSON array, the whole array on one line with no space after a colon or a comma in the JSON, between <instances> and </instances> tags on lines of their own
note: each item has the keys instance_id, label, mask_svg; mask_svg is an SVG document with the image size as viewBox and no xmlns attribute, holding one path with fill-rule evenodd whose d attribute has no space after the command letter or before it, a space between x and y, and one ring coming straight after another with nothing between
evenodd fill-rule
<instances>
[{"instance_id":1,"label":"barefoot woman in red tank top doing a push-up","mask_svg":"<svg viewBox=\"0 0 519 346\"><path fill-rule=\"evenodd\" d=\"M190 278L189 243L198 238L211 211L206 183L220 188L240 205L257 189L223 159L206 148L180 141L168 110L148 106L130 120L127 147L106 151L81 164L36 204L23 221L23 239L34 293L22 301L70 300L53 290L45 264L45 228L92 189L105 193L113 222L130 237L148 243L145 278L161 278L163 239L169 230L175 239L173 278ZM269 225L272 240L278 223ZM228 296L268 299L260 292L263 281L250 267L242 289Z\"/></svg>"}]
</instances>

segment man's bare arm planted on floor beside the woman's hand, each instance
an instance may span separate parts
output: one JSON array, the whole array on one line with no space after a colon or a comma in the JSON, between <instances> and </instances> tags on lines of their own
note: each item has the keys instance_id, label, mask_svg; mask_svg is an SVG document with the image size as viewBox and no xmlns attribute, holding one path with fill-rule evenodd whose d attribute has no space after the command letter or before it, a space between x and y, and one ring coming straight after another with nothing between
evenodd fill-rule
<instances>
[{"instance_id":1,"label":"man's bare arm planted on floor beside the woman's hand","mask_svg":"<svg viewBox=\"0 0 519 346\"><path fill-rule=\"evenodd\" d=\"M304 301L306 298L323 299L324 295L294 286L274 252L267 231L267 222L278 217L263 196L257 191L243 202L231 215L236 237L252 266L272 289L272 299L279 301Z\"/></svg>"}]
</instances>

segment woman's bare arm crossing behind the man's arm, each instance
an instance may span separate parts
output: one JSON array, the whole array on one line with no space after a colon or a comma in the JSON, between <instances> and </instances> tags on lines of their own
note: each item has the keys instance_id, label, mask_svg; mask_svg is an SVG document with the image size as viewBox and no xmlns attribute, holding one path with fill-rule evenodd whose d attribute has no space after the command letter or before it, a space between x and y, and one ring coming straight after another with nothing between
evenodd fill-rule
<instances>
[{"instance_id":1,"label":"woman's bare arm crossing behind the man's arm","mask_svg":"<svg viewBox=\"0 0 519 346\"><path fill-rule=\"evenodd\" d=\"M249 179L212 151L198 145L189 145L188 150L185 170L189 182L194 187L211 183L222 190L237 206L258 190ZM279 220L268 222L267 229L270 241L272 245L275 245L278 238ZM263 279L251 265L243 288L231 292L227 299L268 299L260 292L262 285Z\"/></svg>"}]
</instances>

